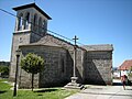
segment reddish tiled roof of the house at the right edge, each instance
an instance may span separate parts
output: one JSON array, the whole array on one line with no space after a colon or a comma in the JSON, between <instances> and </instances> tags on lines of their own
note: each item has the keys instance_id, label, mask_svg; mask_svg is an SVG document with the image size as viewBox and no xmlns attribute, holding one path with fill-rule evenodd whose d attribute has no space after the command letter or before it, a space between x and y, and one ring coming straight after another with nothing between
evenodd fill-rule
<instances>
[{"instance_id":1,"label":"reddish tiled roof of the house at the right edge","mask_svg":"<svg viewBox=\"0 0 132 99\"><path fill-rule=\"evenodd\" d=\"M125 69L130 69L131 66L132 66L132 59L128 59L128 61L124 61L123 64L119 66L118 69L125 70Z\"/></svg>"}]
</instances>

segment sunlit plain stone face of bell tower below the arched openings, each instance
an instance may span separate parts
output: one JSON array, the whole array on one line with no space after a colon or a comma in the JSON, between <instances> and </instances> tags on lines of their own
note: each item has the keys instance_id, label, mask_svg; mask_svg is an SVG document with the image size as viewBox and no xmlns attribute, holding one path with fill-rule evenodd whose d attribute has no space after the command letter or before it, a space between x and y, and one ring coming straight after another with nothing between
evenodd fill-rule
<instances>
[{"instance_id":1,"label":"sunlit plain stone face of bell tower below the arched openings","mask_svg":"<svg viewBox=\"0 0 132 99\"><path fill-rule=\"evenodd\" d=\"M13 33L12 37L12 47L11 47L11 61L10 61L10 80L14 80L14 73L16 66L16 53L19 45L30 44L30 32L26 33Z\"/></svg>"}]
</instances>

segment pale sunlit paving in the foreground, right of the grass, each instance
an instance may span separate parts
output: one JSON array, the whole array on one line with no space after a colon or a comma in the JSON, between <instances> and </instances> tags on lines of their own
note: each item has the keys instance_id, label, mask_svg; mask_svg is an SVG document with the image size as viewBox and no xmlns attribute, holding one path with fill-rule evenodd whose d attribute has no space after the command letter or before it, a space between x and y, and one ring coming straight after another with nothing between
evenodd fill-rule
<instances>
[{"instance_id":1,"label":"pale sunlit paving in the foreground, right of the grass","mask_svg":"<svg viewBox=\"0 0 132 99\"><path fill-rule=\"evenodd\" d=\"M119 80L120 81L120 80ZM132 86L127 86L125 90L121 85L118 86L94 86L66 99L132 99Z\"/></svg>"}]
</instances>

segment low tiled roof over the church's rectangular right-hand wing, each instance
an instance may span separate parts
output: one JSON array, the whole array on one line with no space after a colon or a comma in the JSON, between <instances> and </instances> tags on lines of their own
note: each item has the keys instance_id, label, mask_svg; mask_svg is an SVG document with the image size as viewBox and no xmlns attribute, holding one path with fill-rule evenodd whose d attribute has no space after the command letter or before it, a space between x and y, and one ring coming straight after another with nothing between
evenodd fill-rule
<instances>
[{"instance_id":1,"label":"low tiled roof over the church's rectangular right-hand wing","mask_svg":"<svg viewBox=\"0 0 132 99\"><path fill-rule=\"evenodd\" d=\"M112 44L84 45L87 51L113 51Z\"/></svg>"}]
</instances>

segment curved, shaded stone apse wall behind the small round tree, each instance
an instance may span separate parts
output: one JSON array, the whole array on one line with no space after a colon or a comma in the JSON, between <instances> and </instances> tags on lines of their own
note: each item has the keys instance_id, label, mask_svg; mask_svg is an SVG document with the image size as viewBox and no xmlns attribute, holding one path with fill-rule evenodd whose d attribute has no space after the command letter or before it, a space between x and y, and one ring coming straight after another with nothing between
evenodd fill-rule
<instances>
[{"instance_id":1,"label":"curved, shaded stone apse wall behind the small round tree","mask_svg":"<svg viewBox=\"0 0 132 99\"><path fill-rule=\"evenodd\" d=\"M44 70L35 76L35 87L52 87L65 85L70 80L73 59L69 53L62 47L53 46L21 46L23 55L35 53L45 59ZM20 88L30 87L31 76L20 73Z\"/></svg>"}]
</instances>

